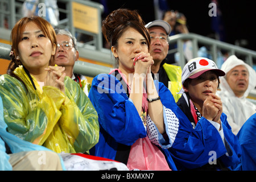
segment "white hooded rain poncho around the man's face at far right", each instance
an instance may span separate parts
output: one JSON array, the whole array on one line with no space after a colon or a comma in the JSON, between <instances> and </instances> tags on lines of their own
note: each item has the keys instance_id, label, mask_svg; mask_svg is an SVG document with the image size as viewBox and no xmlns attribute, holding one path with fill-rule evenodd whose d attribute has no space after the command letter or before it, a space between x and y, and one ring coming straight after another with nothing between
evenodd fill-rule
<instances>
[{"instance_id":1,"label":"white hooded rain poncho around the man's face at far right","mask_svg":"<svg viewBox=\"0 0 256 182\"><path fill-rule=\"evenodd\" d=\"M217 95L221 97L223 113L227 115L229 125L232 127L234 134L237 134L243 123L256 112L256 106L247 100L247 96L256 85L256 73L250 65L244 61L238 59L235 55L230 56L224 64L222 64L222 71L228 73L234 67L238 65L245 65L249 71L249 85L243 94L243 97L236 97L233 90L230 88L226 77L220 78L220 89L217 91Z\"/></svg>"}]
</instances>

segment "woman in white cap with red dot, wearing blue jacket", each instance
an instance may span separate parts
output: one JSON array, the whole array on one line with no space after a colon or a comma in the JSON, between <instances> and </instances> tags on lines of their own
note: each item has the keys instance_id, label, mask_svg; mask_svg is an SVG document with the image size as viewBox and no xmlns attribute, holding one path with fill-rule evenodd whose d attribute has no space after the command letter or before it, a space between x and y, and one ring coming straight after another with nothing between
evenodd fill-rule
<instances>
[{"instance_id":1,"label":"woman in white cap with red dot, wearing blue jacket","mask_svg":"<svg viewBox=\"0 0 256 182\"><path fill-rule=\"evenodd\" d=\"M180 120L176 143L170 149L178 169L225 170L241 163L241 147L222 113L220 97L215 94L218 77L224 75L204 57L190 60L183 68L183 94L177 105L191 123Z\"/></svg>"}]
</instances>

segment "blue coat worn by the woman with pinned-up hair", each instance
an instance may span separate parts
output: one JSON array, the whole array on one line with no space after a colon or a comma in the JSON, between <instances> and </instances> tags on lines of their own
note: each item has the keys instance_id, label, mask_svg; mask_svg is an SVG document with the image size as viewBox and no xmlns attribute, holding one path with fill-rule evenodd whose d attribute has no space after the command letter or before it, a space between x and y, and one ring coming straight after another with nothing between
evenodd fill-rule
<instances>
[{"instance_id":1,"label":"blue coat worn by the woman with pinned-up hair","mask_svg":"<svg viewBox=\"0 0 256 182\"><path fill-rule=\"evenodd\" d=\"M155 85L164 106L166 102L170 102L167 99L169 96L174 101L166 86L158 81L155 81ZM115 160L119 144L131 146L137 139L146 137L147 133L136 107L122 88L121 82L113 75L100 74L93 78L89 98L97 110L100 124L100 139L90 150L90 154ZM171 147L171 140L162 138L162 141L163 148ZM176 170L170 154L166 152L167 163L172 170Z\"/></svg>"}]
</instances>

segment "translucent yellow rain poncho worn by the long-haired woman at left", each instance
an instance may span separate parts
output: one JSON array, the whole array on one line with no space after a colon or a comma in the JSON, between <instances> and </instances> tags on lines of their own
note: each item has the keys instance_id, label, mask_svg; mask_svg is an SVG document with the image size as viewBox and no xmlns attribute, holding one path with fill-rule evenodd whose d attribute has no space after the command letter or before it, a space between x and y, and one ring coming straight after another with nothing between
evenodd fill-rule
<instances>
[{"instance_id":1,"label":"translucent yellow rain poncho worn by the long-haired woman at left","mask_svg":"<svg viewBox=\"0 0 256 182\"><path fill-rule=\"evenodd\" d=\"M99 138L98 115L79 85L65 77L65 94L52 86L40 88L20 66L15 75L0 76L0 95L7 131L55 152L86 152Z\"/></svg>"}]
</instances>

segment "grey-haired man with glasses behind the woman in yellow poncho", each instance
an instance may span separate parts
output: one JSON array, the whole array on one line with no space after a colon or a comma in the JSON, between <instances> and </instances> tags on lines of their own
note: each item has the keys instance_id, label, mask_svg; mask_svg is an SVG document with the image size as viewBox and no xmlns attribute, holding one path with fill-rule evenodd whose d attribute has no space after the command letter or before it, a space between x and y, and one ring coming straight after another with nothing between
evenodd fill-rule
<instances>
[{"instance_id":1,"label":"grey-haired man with glasses behind the woman in yellow poncho","mask_svg":"<svg viewBox=\"0 0 256 182\"><path fill-rule=\"evenodd\" d=\"M72 36L71 32L63 29L55 29L55 33L57 38L55 64L65 67L66 75L75 80L88 96L89 83L85 76L73 73L75 62L79 59L76 38Z\"/></svg>"}]
</instances>

